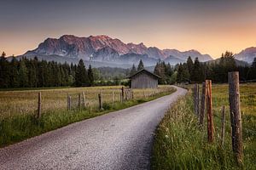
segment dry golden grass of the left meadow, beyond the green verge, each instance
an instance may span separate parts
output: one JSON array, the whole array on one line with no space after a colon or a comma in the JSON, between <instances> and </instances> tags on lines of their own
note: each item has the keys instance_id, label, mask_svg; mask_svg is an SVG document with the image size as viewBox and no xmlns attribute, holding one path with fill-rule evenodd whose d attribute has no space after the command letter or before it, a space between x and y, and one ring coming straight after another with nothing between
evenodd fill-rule
<instances>
[{"instance_id":1,"label":"dry golden grass of the left meadow, beyond the green verge","mask_svg":"<svg viewBox=\"0 0 256 170\"><path fill-rule=\"evenodd\" d=\"M170 88L170 87L169 87ZM154 89L154 94L168 91L167 86ZM0 118L33 114L37 110L38 92L42 92L43 112L54 110L66 110L67 94L72 96L72 105L78 105L79 94L85 94L86 105L94 107L98 105L98 94L102 91L104 103L120 100L121 86L112 87L89 87L89 88L57 88L26 91L0 91ZM148 96L153 93L152 89L134 89L134 98L143 99L144 93Z\"/></svg>"}]
</instances>

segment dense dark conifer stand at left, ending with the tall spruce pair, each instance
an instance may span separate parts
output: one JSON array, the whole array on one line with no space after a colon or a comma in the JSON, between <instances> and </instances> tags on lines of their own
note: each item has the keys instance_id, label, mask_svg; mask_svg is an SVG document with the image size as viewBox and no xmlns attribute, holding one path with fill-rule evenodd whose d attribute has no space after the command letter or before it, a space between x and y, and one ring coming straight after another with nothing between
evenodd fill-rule
<instances>
[{"instance_id":1,"label":"dense dark conifer stand at left, ending with the tall spruce pair","mask_svg":"<svg viewBox=\"0 0 256 170\"><path fill-rule=\"evenodd\" d=\"M11 61L0 57L0 88L42 88L60 86L92 86L94 73L84 61L78 65L60 64L55 61L34 59L15 59Z\"/></svg>"}]
</instances>

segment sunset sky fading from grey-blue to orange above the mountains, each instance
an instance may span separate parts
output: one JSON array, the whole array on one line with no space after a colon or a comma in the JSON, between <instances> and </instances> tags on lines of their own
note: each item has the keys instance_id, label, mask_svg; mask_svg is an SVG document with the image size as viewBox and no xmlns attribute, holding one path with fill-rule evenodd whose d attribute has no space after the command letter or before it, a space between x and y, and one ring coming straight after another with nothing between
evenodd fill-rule
<instances>
[{"instance_id":1,"label":"sunset sky fading from grey-blue to orange above the mountains","mask_svg":"<svg viewBox=\"0 0 256 170\"><path fill-rule=\"evenodd\" d=\"M108 35L218 58L256 46L253 0L0 0L0 52L19 55L48 37Z\"/></svg>"}]
</instances>

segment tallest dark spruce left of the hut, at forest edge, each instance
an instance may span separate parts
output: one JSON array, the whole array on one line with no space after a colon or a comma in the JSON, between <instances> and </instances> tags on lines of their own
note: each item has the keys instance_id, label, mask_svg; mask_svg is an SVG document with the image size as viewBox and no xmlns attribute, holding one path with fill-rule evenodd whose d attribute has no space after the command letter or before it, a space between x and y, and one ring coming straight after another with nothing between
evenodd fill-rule
<instances>
[{"instance_id":1,"label":"tallest dark spruce left of the hut, at forest edge","mask_svg":"<svg viewBox=\"0 0 256 170\"><path fill-rule=\"evenodd\" d=\"M85 69L83 59L80 59L75 74L75 86L81 87L85 84L87 84L87 71Z\"/></svg>"}]
</instances>

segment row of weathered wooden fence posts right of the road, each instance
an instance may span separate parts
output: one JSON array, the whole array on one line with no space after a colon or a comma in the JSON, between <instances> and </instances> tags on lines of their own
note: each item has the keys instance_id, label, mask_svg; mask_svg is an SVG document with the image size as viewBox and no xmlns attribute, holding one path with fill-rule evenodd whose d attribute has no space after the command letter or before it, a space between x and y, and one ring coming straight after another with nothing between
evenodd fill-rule
<instances>
[{"instance_id":1,"label":"row of weathered wooden fence posts right of the road","mask_svg":"<svg viewBox=\"0 0 256 170\"><path fill-rule=\"evenodd\" d=\"M193 88L194 111L199 117L199 126L203 127L205 112L207 113L207 136L208 143L214 141L214 125L212 118L212 81L206 80L201 86L201 99L199 98L199 85L195 84ZM201 107L199 107L201 103ZM229 72L229 103L230 103L230 125L232 150L235 153L236 161L242 163L242 133L241 133L241 110L239 93L239 72ZM200 111L199 111L200 108ZM206 111L205 111L206 110ZM225 107L221 111L221 145L224 146L224 127L225 127ZM202 128L201 128L202 129Z\"/></svg>"}]
</instances>

